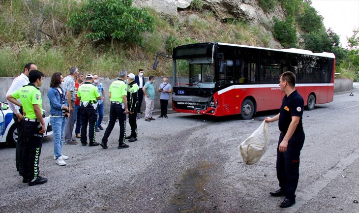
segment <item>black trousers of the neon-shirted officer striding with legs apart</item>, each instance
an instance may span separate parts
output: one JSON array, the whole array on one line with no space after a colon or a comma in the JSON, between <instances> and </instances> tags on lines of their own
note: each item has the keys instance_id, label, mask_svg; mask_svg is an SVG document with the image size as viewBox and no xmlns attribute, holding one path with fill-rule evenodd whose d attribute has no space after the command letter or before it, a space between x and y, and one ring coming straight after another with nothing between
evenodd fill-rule
<instances>
[{"instance_id":1,"label":"black trousers of the neon-shirted officer striding with legs apart","mask_svg":"<svg viewBox=\"0 0 359 213\"><path fill-rule=\"evenodd\" d=\"M112 132L112 129L114 129L117 119L119 119L119 125L120 125L119 145L125 144L126 114L124 113L124 109L122 109L121 104L116 104L116 103L111 103L110 121L109 124L107 125L105 134L103 135L102 143L107 144L107 140Z\"/></svg>"}]
</instances>

